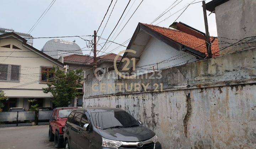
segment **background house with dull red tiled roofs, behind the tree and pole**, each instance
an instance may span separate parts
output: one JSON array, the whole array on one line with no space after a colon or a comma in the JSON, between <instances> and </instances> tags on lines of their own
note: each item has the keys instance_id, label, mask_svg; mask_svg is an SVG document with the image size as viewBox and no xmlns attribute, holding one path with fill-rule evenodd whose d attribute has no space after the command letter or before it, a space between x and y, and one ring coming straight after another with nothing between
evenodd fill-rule
<instances>
[{"instance_id":1,"label":"background house with dull red tiled roofs, behind the tree and pole","mask_svg":"<svg viewBox=\"0 0 256 149\"><path fill-rule=\"evenodd\" d=\"M102 68L101 71L98 71L98 75L102 75L103 73L106 73L108 71L114 70L114 58L117 55L114 53L109 53L105 55L101 55L97 57L97 68ZM118 56L117 64L121 61L121 56ZM95 77L94 75L94 68L93 68L93 62L94 57L89 55L80 55L80 54L72 54L68 56L60 56L59 61L64 63L65 67L67 68L67 71L69 70L82 70L82 76L84 80ZM83 84L84 82L81 82ZM83 87L79 88L81 92L83 93ZM82 95L79 96L77 99L72 101L72 104L70 106L82 106Z\"/></svg>"}]
</instances>

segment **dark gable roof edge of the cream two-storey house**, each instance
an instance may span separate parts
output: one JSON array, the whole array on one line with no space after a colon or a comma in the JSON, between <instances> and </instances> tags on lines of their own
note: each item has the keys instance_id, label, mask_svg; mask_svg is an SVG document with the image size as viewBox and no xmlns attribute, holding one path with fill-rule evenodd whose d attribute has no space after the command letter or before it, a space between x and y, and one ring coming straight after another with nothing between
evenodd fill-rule
<instances>
[{"instance_id":1,"label":"dark gable roof edge of the cream two-storey house","mask_svg":"<svg viewBox=\"0 0 256 149\"><path fill-rule=\"evenodd\" d=\"M6 34L1 34L1 35L0 35L0 39L9 39L9 38L14 38L14 39L19 40L20 42L22 42L22 45L23 45L25 48L27 48L27 49L33 51L34 53L38 54L39 56L44 57L45 59L47 59L47 60L53 62L54 64L57 64L58 66L64 67L64 64L63 64L62 62L60 62L60 61L58 61L58 60L56 60L56 59L53 59L53 58L50 57L49 55L43 53L43 52L40 51L40 50L37 50L37 49L34 48L33 46L27 44L27 40L24 39L24 38L22 38L22 37L20 37L20 36L17 35L16 33L10 32L10 33L6 33Z\"/></svg>"}]
</instances>

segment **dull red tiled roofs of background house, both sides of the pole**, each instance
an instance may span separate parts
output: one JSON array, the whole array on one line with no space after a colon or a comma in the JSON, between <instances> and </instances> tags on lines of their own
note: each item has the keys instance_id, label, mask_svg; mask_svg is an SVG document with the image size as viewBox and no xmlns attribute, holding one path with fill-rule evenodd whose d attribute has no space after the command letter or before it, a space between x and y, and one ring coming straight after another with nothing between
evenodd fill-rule
<instances>
[{"instance_id":1,"label":"dull red tiled roofs of background house, both sides of the pole","mask_svg":"<svg viewBox=\"0 0 256 149\"><path fill-rule=\"evenodd\" d=\"M97 57L97 60L110 60L114 61L114 58L117 54L109 53L105 55L101 55ZM122 56L119 56L117 61L120 61ZM75 62L75 63L84 63L84 64L91 64L94 62L94 57L89 55L79 55L79 54L72 54L64 57L64 62Z\"/></svg>"}]
</instances>

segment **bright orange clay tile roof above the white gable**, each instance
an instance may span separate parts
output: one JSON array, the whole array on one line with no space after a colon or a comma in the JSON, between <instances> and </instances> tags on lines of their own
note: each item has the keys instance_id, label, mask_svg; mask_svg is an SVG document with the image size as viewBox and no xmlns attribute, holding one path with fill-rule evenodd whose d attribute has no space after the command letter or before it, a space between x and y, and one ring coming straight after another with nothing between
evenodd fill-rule
<instances>
[{"instance_id":1,"label":"bright orange clay tile roof above the white gable","mask_svg":"<svg viewBox=\"0 0 256 149\"><path fill-rule=\"evenodd\" d=\"M155 32L158 32L164 35L165 37L174 40L175 42L186 45L194 50L198 50L201 53L205 53L206 55L208 55L207 49L206 49L206 43L205 43L205 40L203 39L199 39L197 37L194 37L193 35L187 34L182 31L178 31L177 29L159 27L151 24L144 24L144 25L154 30ZM211 37L211 40L212 39L213 37ZM215 40L213 41L211 49L213 54L212 57L219 56L219 46L218 46L217 38L215 38Z\"/></svg>"}]
</instances>

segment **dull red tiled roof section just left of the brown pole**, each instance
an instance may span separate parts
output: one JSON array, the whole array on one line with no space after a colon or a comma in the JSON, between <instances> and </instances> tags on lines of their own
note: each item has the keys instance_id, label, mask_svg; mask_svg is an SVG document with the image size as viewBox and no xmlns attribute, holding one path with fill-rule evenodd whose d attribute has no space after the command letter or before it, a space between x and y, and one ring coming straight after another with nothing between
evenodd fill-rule
<instances>
[{"instance_id":1,"label":"dull red tiled roof section just left of the brown pole","mask_svg":"<svg viewBox=\"0 0 256 149\"><path fill-rule=\"evenodd\" d=\"M76 62L90 64L94 61L94 58L89 55L72 54L64 57L64 62Z\"/></svg>"}]
</instances>

